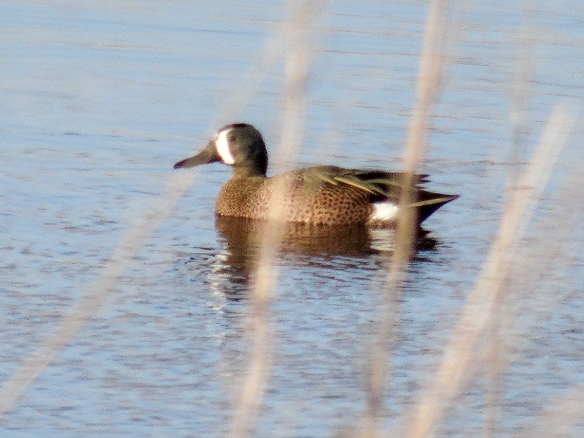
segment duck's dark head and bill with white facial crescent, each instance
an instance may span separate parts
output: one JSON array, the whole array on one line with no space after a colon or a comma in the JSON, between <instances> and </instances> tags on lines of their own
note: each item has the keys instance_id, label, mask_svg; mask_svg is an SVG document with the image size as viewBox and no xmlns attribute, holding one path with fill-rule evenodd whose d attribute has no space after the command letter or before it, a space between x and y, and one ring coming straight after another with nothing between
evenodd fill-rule
<instances>
[{"instance_id":1,"label":"duck's dark head and bill with white facial crescent","mask_svg":"<svg viewBox=\"0 0 584 438\"><path fill-rule=\"evenodd\" d=\"M247 123L224 126L198 155L183 159L175 169L223 162L233 167L235 176L266 176L267 151L262 134Z\"/></svg>"}]
</instances>

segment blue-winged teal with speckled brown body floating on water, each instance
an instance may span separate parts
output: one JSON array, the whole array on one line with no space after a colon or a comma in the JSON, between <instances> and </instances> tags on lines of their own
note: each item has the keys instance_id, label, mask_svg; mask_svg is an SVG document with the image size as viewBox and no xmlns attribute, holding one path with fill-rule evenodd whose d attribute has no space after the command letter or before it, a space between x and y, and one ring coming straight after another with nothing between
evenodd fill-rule
<instances>
[{"instance_id":1,"label":"blue-winged teal with speckled brown body floating on water","mask_svg":"<svg viewBox=\"0 0 584 438\"><path fill-rule=\"evenodd\" d=\"M232 166L233 175L217 197L221 216L266 219L274 187L288 190L280 213L287 221L322 225L395 223L404 173L316 166L267 178L267 151L262 134L246 123L224 126L199 155L183 159L175 169L213 162ZM419 175L418 183L427 182ZM427 192L416 185L419 223L457 194Z\"/></svg>"}]
</instances>

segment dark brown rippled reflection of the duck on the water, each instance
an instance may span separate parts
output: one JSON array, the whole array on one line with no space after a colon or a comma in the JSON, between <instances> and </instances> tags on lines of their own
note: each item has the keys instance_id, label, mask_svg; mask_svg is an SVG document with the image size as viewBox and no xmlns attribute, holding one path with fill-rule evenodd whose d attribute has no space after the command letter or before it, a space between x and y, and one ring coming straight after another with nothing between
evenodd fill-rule
<instances>
[{"instance_id":1,"label":"dark brown rippled reflection of the duck on the water","mask_svg":"<svg viewBox=\"0 0 584 438\"><path fill-rule=\"evenodd\" d=\"M224 300L247 297L260 249L265 221L239 217L217 217L220 248L191 248L184 254L190 277L207 284L212 293ZM419 230L418 250L432 251L436 240ZM381 267L391 258L395 230L376 230L361 225L325 227L298 223L287 224L274 263L300 269L311 277L318 270L340 274L347 269ZM420 260L419 255L416 260ZM383 269L383 268L382 268Z\"/></svg>"}]
</instances>

